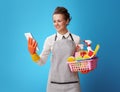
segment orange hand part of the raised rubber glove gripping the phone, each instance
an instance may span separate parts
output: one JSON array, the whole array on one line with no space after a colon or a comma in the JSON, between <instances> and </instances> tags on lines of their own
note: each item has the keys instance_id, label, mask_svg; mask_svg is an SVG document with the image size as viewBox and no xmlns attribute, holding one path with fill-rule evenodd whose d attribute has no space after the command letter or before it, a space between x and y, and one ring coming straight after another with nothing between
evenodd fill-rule
<instances>
[{"instance_id":1,"label":"orange hand part of the raised rubber glove gripping the phone","mask_svg":"<svg viewBox=\"0 0 120 92\"><path fill-rule=\"evenodd\" d=\"M36 47L37 47L37 42L32 38L28 38L28 50L31 55L36 53Z\"/></svg>"}]
</instances>

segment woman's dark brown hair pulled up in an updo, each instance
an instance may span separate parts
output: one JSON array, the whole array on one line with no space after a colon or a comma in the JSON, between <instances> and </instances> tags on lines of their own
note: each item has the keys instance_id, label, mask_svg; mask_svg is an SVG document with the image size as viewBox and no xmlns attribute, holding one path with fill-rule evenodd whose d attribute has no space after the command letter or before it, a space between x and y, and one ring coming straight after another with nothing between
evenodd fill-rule
<instances>
[{"instance_id":1,"label":"woman's dark brown hair pulled up in an updo","mask_svg":"<svg viewBox=\"0 0 120 92\"><path fill-rule=\"evenodd\" d=\"M63 14L64 15L64 18L65 20L71 20L71 17L70 17L70 14L68 12L68 10L65 8L65 7L57 7L53 13L54 14Z\"/></svg>"}]
</instances>

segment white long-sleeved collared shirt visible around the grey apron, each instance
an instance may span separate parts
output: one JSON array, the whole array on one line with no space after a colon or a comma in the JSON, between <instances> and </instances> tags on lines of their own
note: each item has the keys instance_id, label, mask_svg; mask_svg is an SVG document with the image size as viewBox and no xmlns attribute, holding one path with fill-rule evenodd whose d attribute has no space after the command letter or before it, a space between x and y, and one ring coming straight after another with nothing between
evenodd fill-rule
<instances>
[{"instance_id":1,"label":"white long-sleeved collared shirt visible around the grey apron","mask_svg":"<svg viewBox=\"0 0 120 92\"><path fill-rule=\"evenodd\" d=\"M67 32L66 34L64 34L64 36L65 36L65 38L67 38L69 40L72 40L71 37L69 36L69 34L70 34L70 32ZM74 39L75 44L79 44L80 43L80 37L75 35L75 34L71 34L71 35ZM53 34L53 35L46 38L44 46L43 46L42 53L40 54L40 60L38 61L39 65L45 64L45 62L47 61L48 56L52 51L53 44L55 42L55 36L56 36L56 34ZM56 41L61 40L62 37L63 37L63 35L61 35L57 32Z\"/></svg>"}]
</instances>

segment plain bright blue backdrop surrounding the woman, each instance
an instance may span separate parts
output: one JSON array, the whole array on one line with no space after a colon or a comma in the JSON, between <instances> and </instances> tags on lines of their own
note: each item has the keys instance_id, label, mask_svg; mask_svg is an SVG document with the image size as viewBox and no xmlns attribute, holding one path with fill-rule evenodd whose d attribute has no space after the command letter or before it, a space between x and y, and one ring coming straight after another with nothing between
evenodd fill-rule
<instances>
[{"instance_id":1,"label":"plain bright blue backdrop surrounding the woman","mask_svg":"<svg viewBox=\"0 0 120 92\"><path fill-rule=\"evenodd\" d=\"M1 0L0 92L46 92L50 59L44 66L34 63L24 33L33 34L40 54L45 38L56 32L57 6L69 10L72 33L101 46L97 68L79 73L82 92L120 92L119 0Z\"/></svg>"}]
</instances>

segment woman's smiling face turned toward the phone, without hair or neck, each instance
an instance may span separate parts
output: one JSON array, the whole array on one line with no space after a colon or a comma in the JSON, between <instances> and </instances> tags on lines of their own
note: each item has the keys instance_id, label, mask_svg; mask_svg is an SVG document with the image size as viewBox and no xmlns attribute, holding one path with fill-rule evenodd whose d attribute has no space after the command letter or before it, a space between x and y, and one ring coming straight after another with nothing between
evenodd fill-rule
<instances>
[{"instance_id":1,"label":"woman's smiling face turned toward the phone, without hair or neck","mask_svg":"<svg viewBox=\"0 0 120 92\"><path fill-rule=\"evenodd\" d=\"M66 26L68 24L68 20L65 20L63 14L54 14L53 15L53 24L58 32L66 31Z\"/></svg>"}]
</instances>

